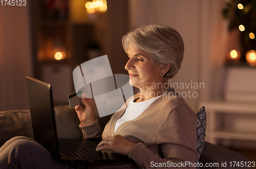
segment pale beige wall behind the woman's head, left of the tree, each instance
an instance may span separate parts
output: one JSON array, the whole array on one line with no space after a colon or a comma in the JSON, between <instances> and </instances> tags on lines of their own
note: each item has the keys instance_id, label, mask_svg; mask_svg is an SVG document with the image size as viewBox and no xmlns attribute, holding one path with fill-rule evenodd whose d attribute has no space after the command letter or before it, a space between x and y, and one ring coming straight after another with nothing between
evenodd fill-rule
<instances>
[{"instance_id":1,"label":"pale beige wall behind the woman's head, left of the tree","mask_svg":"<svg viewBox=\"0 0 256 169\"><path fill-rule=\"evenodd\" d=\"M223 5L221 0L130 0L130 29L155 23L173 27L183 37L183 63L170 83L178 83L175 88L183 93L194 111L198 111L201 100L210 100L221 93L219 84L227 41L227 23L221 16ZM199 84L198 88L204 83L204 88L201 84L201 89L195 89L194 83ZM182 85L189 87L183 89ZM192 95L193 92L196 93Z\"/></svg>"}]
</instances>

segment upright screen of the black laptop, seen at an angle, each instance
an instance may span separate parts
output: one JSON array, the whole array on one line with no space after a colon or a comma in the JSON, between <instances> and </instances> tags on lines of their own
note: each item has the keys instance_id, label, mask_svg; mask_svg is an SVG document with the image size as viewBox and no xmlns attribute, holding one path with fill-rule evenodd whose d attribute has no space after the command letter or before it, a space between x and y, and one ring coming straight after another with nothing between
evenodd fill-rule
<instances>
[{"instance_id":1,"label":"upright screen of the black laptop, seen at an angle","mask_svg":"<svg viewBox=\"0 0 256 169\"><path fill-rule=\"evenodd\" d=\"M51 85L26 76L34 139L58 159Z\"/></svg>"}]
</instances>

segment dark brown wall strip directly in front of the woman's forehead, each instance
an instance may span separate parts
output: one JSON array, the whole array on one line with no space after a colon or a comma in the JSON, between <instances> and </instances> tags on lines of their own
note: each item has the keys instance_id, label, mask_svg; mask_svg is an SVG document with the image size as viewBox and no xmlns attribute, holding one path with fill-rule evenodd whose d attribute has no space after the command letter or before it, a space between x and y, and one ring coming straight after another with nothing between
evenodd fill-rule
<instances>
[{"instance_id":1,"label":"dark brown wall strip directly in front of the woman's forehead","mask_svg":"<svg viewBox=\"0 0 256 169\"><path fill-rule=\"evenodd\" d=\"M129 11L127 0L108 1L106 11L105 46L113 74L127 74L124 66L127 56L122 47L122 37L129 29Z\"/></svg>"}]
</instances>

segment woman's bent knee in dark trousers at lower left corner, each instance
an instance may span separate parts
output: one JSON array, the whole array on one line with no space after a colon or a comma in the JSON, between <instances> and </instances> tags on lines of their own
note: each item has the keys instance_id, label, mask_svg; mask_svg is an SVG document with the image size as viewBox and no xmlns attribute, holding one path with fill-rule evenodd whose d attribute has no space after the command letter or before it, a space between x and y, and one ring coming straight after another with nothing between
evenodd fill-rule
<instances>
[{"instance_id":1,"label":"woman's bent knee in dark trousers at lower left corner","mask_svg":"<svg viewBox=\"0 0 256 169\"><path fill-rule=\"evenodd\" d=\"M35 140L17 136L0 148L0 168L72 168L57 162L49 151Z\"/></svg>"}]
</instances>

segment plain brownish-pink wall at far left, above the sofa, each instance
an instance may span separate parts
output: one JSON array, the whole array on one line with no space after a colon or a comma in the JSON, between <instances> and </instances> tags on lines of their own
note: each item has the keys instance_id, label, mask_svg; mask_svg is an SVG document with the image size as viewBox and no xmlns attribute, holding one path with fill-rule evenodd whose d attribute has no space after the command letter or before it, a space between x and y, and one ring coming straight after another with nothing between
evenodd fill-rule
<instances>
[{"instance_id":1,"label":"plain brownish-pink wall at far left, above the sofa","mask_svg":"<svg viewBox=\"0 0 256 169\"><path fill-rule=\"evenodd\" d=\"M29 4L0 6L0 111L29 108L25 77L33 76L30 37Z\"/></svg>"}]
</instances>

